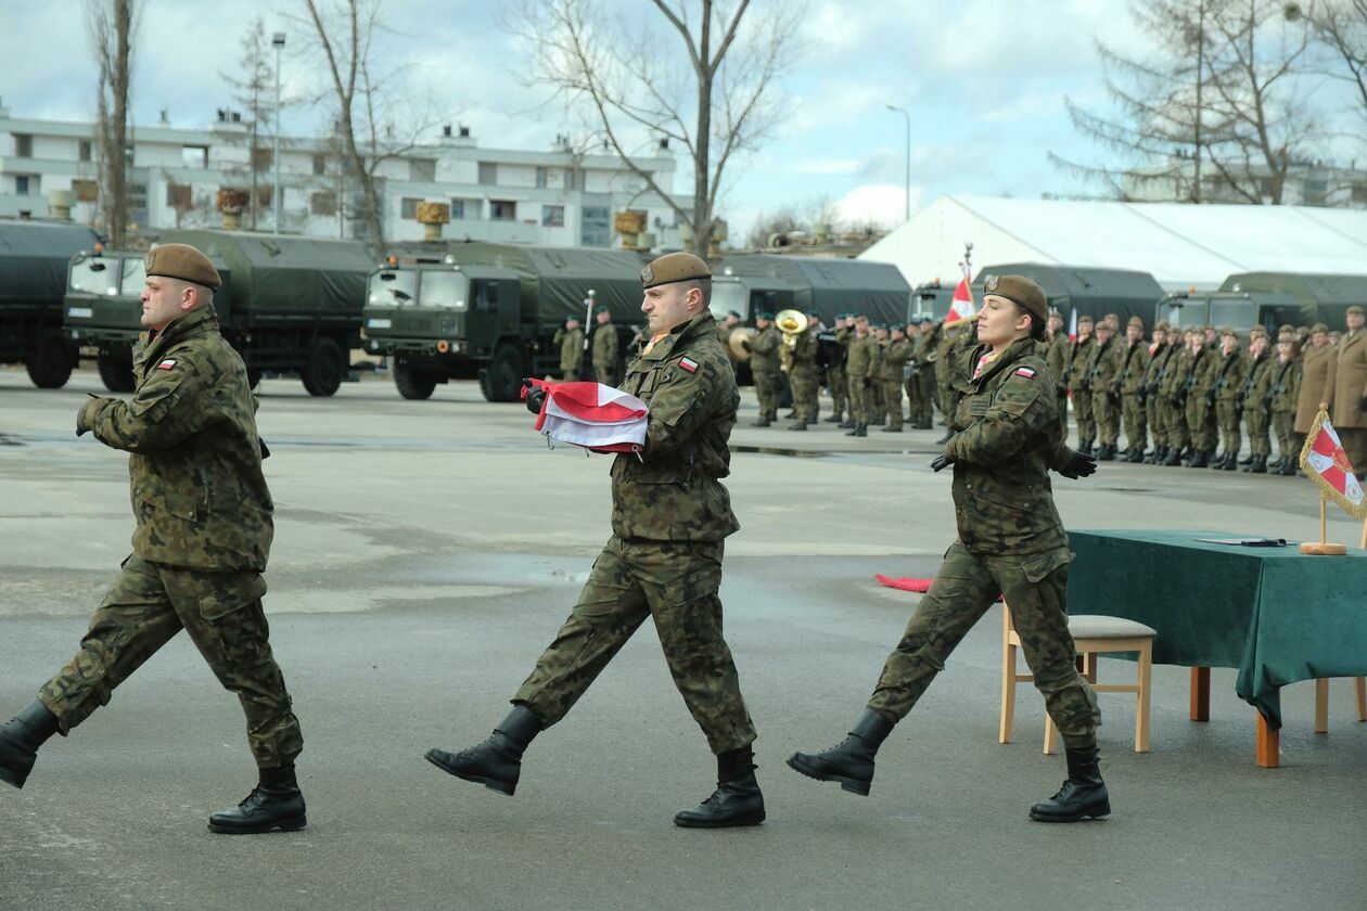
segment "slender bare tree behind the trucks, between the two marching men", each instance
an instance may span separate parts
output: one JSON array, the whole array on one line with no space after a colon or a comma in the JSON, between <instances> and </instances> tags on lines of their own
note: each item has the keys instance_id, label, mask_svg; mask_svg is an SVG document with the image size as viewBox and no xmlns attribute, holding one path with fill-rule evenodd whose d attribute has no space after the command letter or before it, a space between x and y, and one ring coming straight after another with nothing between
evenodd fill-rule
<instances>
[{"instance_id":1,"label":"slender bare tree behind the trucks, between the two marching men","mask_svg":"<svg viewBox=\"0 0 1367 911\"><path fill-rule=\"evenodd\" d=\"M350 216L365 225L366 242L380 254L385 249L380 168L413 152L444 117L433 113L431 93L405 85L403 67L384 68L381 0L303 0L303 7L308 15L291 20L305 25L324 67L327 89L320 100L331 100L335 111L339 179L358 191ZM343 206L344 197L339 194Z\"/></svg>"}]
</instances>

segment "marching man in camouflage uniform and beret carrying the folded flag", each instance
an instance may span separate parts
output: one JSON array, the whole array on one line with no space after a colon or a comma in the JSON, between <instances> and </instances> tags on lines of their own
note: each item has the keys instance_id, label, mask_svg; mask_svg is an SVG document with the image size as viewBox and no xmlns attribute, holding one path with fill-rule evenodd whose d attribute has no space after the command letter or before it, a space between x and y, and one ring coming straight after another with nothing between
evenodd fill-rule
<instances>
[{"instance_id":1,"label":"marching man in camouflage uniform and beret carrying the folded flag","mask_svg":"<svg viewBox=\"0 0 1367 911\"><path fill-rule=\"evenodd\" d=\"M740 393L707 309L711 275L690 253L663 255L641 270L641 310L653 336L627 365L622 389L645 402L649 414L645 448L612 463L612 537L507 718L474 747L428 751L444 772L511 795L532 738L565 717L651 617L674 683L718 759L716 792L674 822L763 822L755 725L722 638L718 598L723 541L740 527L722 485ZM543 396L529 395L528 408L540 412Z\"/></svg>"}]
</instances>

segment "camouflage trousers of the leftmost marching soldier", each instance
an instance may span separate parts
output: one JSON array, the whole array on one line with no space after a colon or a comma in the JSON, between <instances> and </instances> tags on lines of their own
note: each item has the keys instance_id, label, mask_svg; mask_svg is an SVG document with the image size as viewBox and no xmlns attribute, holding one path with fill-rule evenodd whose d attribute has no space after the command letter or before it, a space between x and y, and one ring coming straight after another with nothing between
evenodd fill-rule
<instances>
[{"instance_id":1,"label":"camouflage trousers of the leftmost marching soldier","mask_svg":"<svg viewBox=\"0 0 1367 911\"><path fill-rule=\"evenodd\" d=\"M185 570L133 555L96 608L81 650L38 690L38 699L66 735L183 628L219 683L242 703L257 765L290 765L303 750L303 736L271 654L262 594L265 582L256 572Z\"/></svg>"}]
</instances>

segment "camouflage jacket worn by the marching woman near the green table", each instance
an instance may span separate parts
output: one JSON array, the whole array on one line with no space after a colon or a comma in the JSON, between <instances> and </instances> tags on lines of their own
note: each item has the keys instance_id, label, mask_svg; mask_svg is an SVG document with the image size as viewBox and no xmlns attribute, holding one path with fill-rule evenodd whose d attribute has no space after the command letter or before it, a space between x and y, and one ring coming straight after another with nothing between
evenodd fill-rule
<instances>
[{"instance_id":1,"label":"camouflage jacket worn by the marching woman near the green table","mask_svg":"<svg viewBox=\"0 0 1367 911\"><path fill-rule=\"evenodd\" d=\"M976 363L987 351L969 355ZM954 462L958 539L973 553L1018 555L1040 563L1039 576L1068 561L1068 534L1054 508L1048 470L1072 458L1058 423L1058 399L1035 341L1021 339L960 395L945 455ZM1047 567L1044 564L1048 564ZM1028 567L1027 567L1028 568Z\"/></svg>"}]
</instances>

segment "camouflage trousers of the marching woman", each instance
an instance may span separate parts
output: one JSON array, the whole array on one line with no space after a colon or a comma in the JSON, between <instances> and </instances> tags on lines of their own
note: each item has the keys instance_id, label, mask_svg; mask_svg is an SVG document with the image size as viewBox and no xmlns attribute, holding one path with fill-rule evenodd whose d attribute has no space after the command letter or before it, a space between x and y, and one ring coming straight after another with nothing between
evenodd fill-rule
<instances>
[{"instance_id":1,"label":"camouflage trousers of the marching woman","mask_svg":"<svg viewBox=\"0 0 1367 911\"><path fill-rule=\"evenodd\" d=\"M1096 694L1077 672L1068 632L1070 559L1066 550L1031 557L969 553L956 541L883 665L868 706L905 718L960 641L1003 594L1035 687L1064 742L1070 747L1096 743Z\"/></svg>"}]
</instances>

